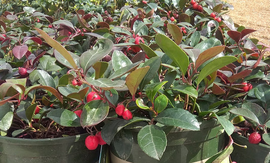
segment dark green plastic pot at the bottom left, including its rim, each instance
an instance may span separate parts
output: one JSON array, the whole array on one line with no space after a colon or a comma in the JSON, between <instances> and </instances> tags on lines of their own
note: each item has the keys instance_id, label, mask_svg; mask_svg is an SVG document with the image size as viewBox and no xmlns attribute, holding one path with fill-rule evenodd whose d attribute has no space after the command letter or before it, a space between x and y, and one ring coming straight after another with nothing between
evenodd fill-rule
<instances>
[{"instance_id":1,"label":"dark green plastic pot at the bottom left, including its rim","mask_svg":"<svg viewBox=\"0 0 270 163\"><path fill-rule=\"evenodd\" d=\"M95 163L100 147L88 150L89 134L54 139L18 139L0 137L1 163Z\"/></svg>"}]
</instances>

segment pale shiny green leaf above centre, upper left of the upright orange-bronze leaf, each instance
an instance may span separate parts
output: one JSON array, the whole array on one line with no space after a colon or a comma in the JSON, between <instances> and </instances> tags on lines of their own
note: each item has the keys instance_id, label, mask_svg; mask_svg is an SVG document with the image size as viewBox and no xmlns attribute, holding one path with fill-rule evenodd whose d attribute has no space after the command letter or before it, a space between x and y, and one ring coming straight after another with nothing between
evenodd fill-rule
<instances>
[{"instance_id":1,"label":"pale shiny green leaf above centre, upper left of the upright orange-bronze leaf","mask_svg":"<svg viewBox=\"0 0 270 163\"><path fill-rule=\"evenodd\" d=\"M132 64L132 61L123 52L118 50L113 51L111 62L114 71L117 71Z\"/></svg>"}]
</instances>

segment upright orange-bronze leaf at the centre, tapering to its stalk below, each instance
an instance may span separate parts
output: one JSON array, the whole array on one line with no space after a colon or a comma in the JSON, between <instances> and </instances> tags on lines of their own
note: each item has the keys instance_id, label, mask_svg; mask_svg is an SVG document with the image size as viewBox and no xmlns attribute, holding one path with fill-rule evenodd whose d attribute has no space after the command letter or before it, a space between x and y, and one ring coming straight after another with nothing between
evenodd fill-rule
<instances>
[{"instance_id":1,"label":"upright orange-bronze leaf at the centre, tapering to its stalk below","mask_svg":"<svg viewBox=\"0 0 270 163\"><path fill-rule=\"evenodd\" d=\"M138 89L138 86L141 83L142 79L147 74L147 72L149 71L149 69L150 69L149 66L136 69L126 77L126 85L129 88L129 91L132 94L132 99L134 101L135 101L135 93Z\"/></svg>"}]
</instances>

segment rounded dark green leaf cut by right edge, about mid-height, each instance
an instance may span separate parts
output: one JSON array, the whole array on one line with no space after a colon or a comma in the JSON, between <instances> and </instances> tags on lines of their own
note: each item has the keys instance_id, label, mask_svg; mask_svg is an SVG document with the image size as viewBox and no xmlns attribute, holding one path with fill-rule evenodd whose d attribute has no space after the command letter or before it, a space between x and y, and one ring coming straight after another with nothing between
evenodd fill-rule
<instances>
[{"instance_id":1,"label":"rounded dark green leaf cut by right edge, about mid-height","mask_svg":"<svg viewBox=\"0 0 270 163\"><path fill-rule=\"evenodd\" d=\"M270 85L257 85L254 89L254 94L261 102L270 104Z\"/></svg>"}]
</instances>

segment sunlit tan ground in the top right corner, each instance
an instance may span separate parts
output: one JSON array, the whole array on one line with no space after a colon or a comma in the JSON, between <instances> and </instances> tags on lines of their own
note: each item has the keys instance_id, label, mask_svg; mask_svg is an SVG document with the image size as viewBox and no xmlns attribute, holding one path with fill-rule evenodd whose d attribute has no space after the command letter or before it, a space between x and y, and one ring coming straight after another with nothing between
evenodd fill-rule
<instances>
[{"instance_id":1,"label":"sunlit tan ground in the top right corner","mask_svg":"<svg viewBox=\"0 0 270 163\"><path fill-rule=\"evenodd\" d=\"M235 23L246 28L256 29L250 38L256 38L270 45L270 0L227 0L234 6L228 15Z\"/></svg>"}]
</instances>

